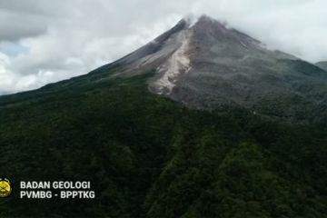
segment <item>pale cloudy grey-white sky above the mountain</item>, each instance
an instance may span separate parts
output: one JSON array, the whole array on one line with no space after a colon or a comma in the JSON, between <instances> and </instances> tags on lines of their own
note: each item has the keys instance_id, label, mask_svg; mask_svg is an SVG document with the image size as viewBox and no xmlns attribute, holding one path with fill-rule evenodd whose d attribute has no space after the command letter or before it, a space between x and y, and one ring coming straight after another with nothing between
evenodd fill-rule
<instances>
[{"instance_id":1,"label":"pale cloudy grey-white sky above the mountain","mask_svg":"<svg viewBox=\"0 0 327 218\"><path fill-rule=\"evenodd\" d=\"M279 49L327 61L325 0L0 0L0 94L113 62L186 15L210 15Z\"/></svg>"}]
</instances>

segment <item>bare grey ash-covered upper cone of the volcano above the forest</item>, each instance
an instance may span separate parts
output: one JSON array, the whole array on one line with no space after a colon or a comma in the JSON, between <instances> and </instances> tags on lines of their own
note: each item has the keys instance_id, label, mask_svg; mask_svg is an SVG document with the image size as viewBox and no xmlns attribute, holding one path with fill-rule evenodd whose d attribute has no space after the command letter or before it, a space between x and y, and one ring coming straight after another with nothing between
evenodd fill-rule
<instances>
[{"instance_id":1,"label":"bare grey ash-covered upper cone of the volcano above the forest","mask_svg":"<svg viewBox=\"0 0 327 218\"><path fill-rule=\"evenodd\" d=\"M115 64L122 74L155 70L149 90L190 107L234 105L297 120L326 114L325 71L205 15L181 20Z\"/></svg>"}]
</instances>

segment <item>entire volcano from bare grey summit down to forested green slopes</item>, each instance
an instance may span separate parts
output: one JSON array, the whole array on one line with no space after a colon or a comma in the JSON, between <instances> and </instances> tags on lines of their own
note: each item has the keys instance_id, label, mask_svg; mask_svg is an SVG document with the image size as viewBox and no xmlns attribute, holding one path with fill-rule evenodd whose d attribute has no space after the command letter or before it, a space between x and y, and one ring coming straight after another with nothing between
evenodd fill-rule
<instances>
[{"instance_id":1,"label":"entire volcano from bare grey summit down to forested green slopes","mask_svg":"<svg viewBox=\"0 0 327 218\"><path fill-rule=\"evenodd\" d=\"M0 216L326 217L326 94L322 67L182 19L89 74L0 97ZM20 195L46 181L94 198Z\"/></svg>"}]
</instances>

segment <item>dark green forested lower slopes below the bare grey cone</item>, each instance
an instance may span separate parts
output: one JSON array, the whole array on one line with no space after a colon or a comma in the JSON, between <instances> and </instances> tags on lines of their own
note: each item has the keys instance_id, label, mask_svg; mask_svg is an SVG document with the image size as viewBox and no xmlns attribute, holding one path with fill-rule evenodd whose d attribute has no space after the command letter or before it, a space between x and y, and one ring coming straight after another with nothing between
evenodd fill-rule
<instances>
[{"instance_id":1,"label":"dark green forested lower slopes below the bare grey cone","mask_svg":"<svg viewBox=\"0 0 327 218\"><path fill-rule=\"evenodd\" d=\"M115 68L0 98L0 217L327 217L322 126L204 112ZM19 181L92 181L94 200L20 200Z\"/></svg>"}]
</instances>

